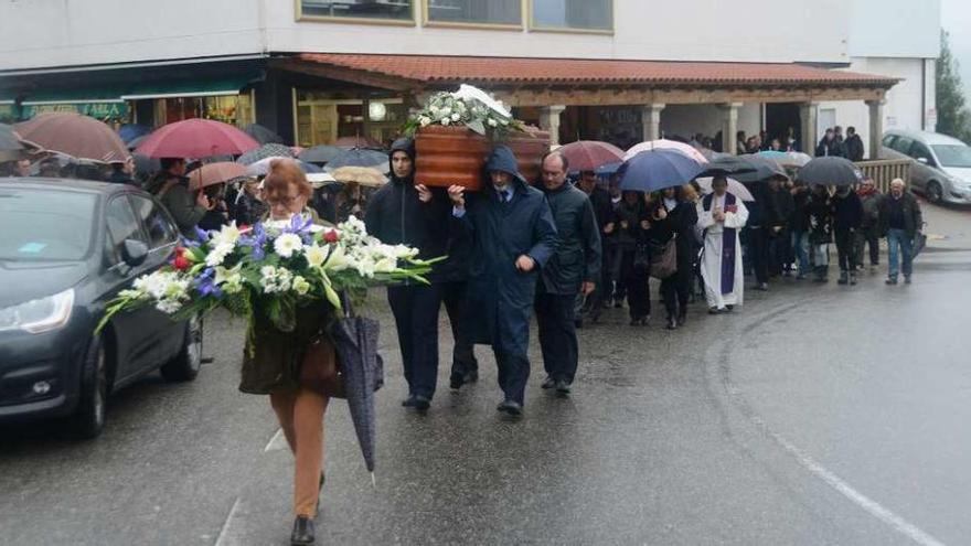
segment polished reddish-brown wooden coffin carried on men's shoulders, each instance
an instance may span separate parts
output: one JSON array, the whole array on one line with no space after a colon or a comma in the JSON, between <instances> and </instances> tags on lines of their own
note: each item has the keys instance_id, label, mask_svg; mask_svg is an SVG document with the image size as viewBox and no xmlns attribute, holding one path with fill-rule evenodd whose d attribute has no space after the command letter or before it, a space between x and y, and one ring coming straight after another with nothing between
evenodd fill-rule
<instances>
[{"instance_id":1,"label":"polished reddish-brown wooden coffin carried on men's shoulders","mask_svg":"<svg viewBox=\"0 0 971 546\"><path fill-rule=\"evenodd\" d=\"M540 130L511 132L501 143L516 157L520 172L534 183L543 156L549 150L549 133ZM486 159L494 143L465 127L428 126L415 135L415 181L428 186L452 184L478 191L483 183Z\"/></svg>"}]
</instances>

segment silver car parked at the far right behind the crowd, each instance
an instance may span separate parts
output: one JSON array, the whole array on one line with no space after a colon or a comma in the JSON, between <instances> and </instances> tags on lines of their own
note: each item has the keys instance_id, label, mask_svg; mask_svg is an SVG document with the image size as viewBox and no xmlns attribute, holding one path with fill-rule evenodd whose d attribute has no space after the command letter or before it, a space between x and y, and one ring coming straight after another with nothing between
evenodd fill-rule
<instances>
[{"instance_id":1,"label":"silver car parked at the far right behind the crowd","mask_svg":"<svg viewBox=\"0 0 971 546\"><path fill-rule=\"evenodd\" d=\"M884 133L883 157L909 158L910 185L931 203L971 204L971 147L926 131Z\"/></svg>"}]
</instances>

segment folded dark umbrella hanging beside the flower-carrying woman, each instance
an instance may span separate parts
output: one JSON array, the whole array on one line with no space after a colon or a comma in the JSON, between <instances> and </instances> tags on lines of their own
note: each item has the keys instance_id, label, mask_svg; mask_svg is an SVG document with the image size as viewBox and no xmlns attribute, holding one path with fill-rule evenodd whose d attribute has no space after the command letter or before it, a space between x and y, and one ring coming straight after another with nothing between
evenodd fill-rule
<instances>
[{"instance_id":1,"label":"folded dark umbrella hanging beside the flower-carrying woman","mask_svg":"<svg viewBox=\"0 0 971 546\"><path fill-rule=\"evenodd\" d=\"M342 297L344 317L330 329L341 362L348 409L364 456L364 465L374 481L376 419L374 392L384 385L384 362L377 354L380 325L376 320L351 314L351 302Z\"/></svg>"}]
</instances>

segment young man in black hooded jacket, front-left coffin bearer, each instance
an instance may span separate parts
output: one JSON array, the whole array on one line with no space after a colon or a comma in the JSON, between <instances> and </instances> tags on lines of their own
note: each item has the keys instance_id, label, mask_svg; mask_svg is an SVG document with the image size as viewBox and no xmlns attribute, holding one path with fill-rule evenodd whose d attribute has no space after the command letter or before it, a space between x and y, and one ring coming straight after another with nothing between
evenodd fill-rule
<instances>
[{"instance_id":1,"label":"young man in black hooded jacket, front-left coffin bearer","mask_svg":"<svg viewBox=\"0 0 971 546\"><path fill-rule=\"evenodd\" d=\"M436 217L429 203L430 194L425 196L415 188L414 140L403 138L392 144L391 173L391 182L367 204L364 217L367 233L387 245L415 247L422 259L445 256L448 231L441 228L441 223L447 222L448 216ZM408 397L402 405L422 411L430 406L438 381L438 310L442 286L438 282L437 269L428 276L430 286L405 282L387 289L408 382Z\"/></svg>"}]
</instances>

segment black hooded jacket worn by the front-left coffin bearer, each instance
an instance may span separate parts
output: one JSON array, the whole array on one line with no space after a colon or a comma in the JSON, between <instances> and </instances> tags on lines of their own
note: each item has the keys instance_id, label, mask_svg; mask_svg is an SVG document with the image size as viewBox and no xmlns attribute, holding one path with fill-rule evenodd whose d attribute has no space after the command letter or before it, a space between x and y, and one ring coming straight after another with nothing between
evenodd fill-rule
<instances>
[{"instance_id":1,"label":"black hooded jacket worn by the front-left coffin bearer","mask_svg":"<svg viewBox=\"0 0 971 546\"><path fill-rule=\"evenodd\" d=\"M418 257L431 259L445 256L448 249L449 234L441 228L445 216L440 214L440 207L422 203L418 200L418 191L415 190L415 141L410 138L395 140L391 147L391 157L394 152L403 151L412 158L412 174L398 178L391 167L391 181L378 190L364 215L364 224L367 233L377 237L386 245L405 244L418 249ZM436 218L436 212L439 212ZM438 220L438 223L436 223ZM431 271L430 281L440 280L440 268Z\"/></svg>"}]
</instances>

